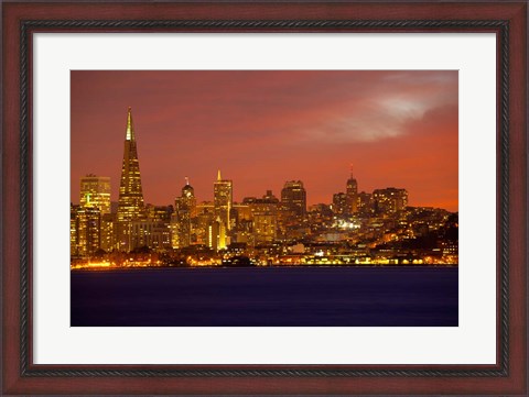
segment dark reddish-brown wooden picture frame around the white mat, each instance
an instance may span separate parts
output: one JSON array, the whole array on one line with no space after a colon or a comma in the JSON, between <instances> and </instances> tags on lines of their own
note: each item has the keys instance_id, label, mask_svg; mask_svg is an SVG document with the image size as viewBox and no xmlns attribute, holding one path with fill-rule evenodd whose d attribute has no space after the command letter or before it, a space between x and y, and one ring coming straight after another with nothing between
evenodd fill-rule
<instances>
[{"instance_id":1,"label":"dark reddish-brown wooden picture frame around the white mat","mask_svg":"<svg viewBox=\"0 0 529 397\"><path fill-rule=\"evenodd\" d=\"M527 5L525 0L456 3L3 2L2 394L527 395ZM191 31L496 34L496 364L33 364L32 34Z\"/></svg>"}]
</instances>

